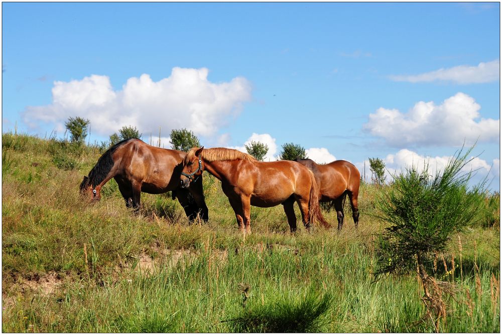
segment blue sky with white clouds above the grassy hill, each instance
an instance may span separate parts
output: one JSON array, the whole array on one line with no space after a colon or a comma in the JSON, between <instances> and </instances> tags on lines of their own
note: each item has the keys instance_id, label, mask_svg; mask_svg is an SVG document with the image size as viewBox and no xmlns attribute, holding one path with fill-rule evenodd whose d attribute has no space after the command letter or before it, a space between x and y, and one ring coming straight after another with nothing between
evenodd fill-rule
<instances>
[{"instance_id":1,"label":"blue sky with white clouds above the grassy hill","mask_svg":"<svg viewBox=\"0 0 502 335\"><path fill-rule=\"evenodd\" d=\"M82 116L91 142L134 125L169 147L187 127L366 175L477 139L471 168L499 190L499 25L498 3L3 3L2 129Z\"/></svg>"}]
</instances>

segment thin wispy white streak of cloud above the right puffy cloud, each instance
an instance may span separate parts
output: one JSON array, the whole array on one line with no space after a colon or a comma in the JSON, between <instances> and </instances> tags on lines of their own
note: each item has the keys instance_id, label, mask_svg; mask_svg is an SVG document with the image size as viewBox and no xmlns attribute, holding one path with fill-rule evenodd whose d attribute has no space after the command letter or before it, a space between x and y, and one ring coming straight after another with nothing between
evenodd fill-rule
<instances>
[{"instance_id":1,"label":"thin wispy white streak of cloud above the right puffy cloud","mask_svg":"<svg viewBox=\"0 0 502 335\"><path fill-rule=\"evenodd\" d=\"M500 79L500 60L479 63L477 66L460 65L449 69L439 69L418 75L392 75L394 81L411 83L431 81L452 81L458 84L489 83Z\"/></svg>"}]
</instances>

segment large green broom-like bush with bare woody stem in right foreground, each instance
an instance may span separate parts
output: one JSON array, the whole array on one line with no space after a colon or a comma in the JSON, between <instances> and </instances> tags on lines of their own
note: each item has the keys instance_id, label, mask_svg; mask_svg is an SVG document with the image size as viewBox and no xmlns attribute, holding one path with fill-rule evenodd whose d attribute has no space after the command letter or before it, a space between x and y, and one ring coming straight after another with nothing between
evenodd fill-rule
<instances>
[{"instance_id":1,"label":"large green broom-like bush with bare woody stem in right foreground","mask_svg":"<svg viewBox=\"0 0 502 335\"><path fill-rule=\"evenodd\" d=\"M477 220L484 201L483 183L469 190L471 174L462 172L474 159L467 160L472 147L465 154L462 149L448 161L442 173L430 176L427 165L423 172L407 169L394 177L388 192L381 192L376 199L381 213L378 216L387 227L375 248L375 273L417 271L424 289L422 301L431 319L435 319L436 331L440 320L446 318L446 306L434 273L428 273L435 272L434 267L425 265L433 264L456 232ZM435 313L434 317L431 313Z\"/></svg>"}]
</instances>

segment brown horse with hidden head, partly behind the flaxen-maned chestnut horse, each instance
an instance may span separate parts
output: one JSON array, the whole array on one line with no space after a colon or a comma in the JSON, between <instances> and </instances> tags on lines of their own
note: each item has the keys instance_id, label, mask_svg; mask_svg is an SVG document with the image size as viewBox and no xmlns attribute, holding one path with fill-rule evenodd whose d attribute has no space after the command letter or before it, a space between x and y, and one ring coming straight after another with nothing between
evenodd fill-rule
<instances>
[{"instance_id":1,"label":"brown horse with hidden head, partly behind the flaxen-maned chestnut horse","mask_svg":"<svg viewBox=\"0 0 502 335\"><path fill-rule=\"evenodd\" d=\"M357 196L359 195L359 183L361 174L354 164L346 160L335 160L328 164L317 164L312 159L295 159L295 161L309 168L319 185L319 201L331 201L336 210L338 230L343 226L343 205L345 196L350 199L352 218L355 227L359 223L359 211L357 209Z\"/></svg>"}]
</instances>

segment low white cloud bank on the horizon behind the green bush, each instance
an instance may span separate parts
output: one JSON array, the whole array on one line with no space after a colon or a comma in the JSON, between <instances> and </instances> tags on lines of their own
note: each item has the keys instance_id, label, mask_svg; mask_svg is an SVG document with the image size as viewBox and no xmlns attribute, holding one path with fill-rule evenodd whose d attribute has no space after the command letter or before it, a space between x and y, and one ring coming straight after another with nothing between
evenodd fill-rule
<instances>
[{"instance_id":1,"label":"low white cloud bank on the horizon behind the green bush","mask_svg":"<svg viewBox=\"0 0 502 335\"><path fill-rule=\"evenodd\" d=\"M401 149L396 153L388 154L385 159L383 159L386 166L386 181L392 181L394 175L399 175L401 172L404 173L406 169L410 169L412 166L419 172L424 171L424 168L427 167L429 175L435 176L436 173L444 170L448 160L451 158L452 156L424 156L409 149ZM488 182L493 180L490 185L491 188L497 190L500 188L498 182L500 179L500 159L493 159L491 162L479 157L470 157L468 159L471 159L471 161L464 166L462 172L473 173L470 181L471 185L475 185L487 177ZM363 178L365 173L366 181L369 182L371 180L369 160L356 163L355 165L361 172ZM363 171L363 169L365 171Z\"/></svg>"}]
</instances>

